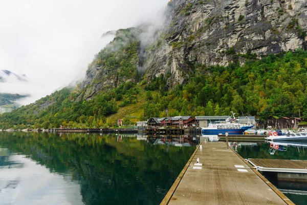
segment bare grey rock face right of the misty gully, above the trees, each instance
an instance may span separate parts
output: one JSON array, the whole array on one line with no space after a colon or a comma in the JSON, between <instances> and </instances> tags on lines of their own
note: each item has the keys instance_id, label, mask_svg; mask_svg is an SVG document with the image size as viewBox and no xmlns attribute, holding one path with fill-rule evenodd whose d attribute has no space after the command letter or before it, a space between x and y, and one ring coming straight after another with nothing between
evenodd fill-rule
<instances>
[{"instance_id":1,"label":"bare grey rock face right of the misty gully, above the trees","mask_svg":"<svg viewBox=\"0 0 307 205\"><path fill-rule=\"evenodd\" d=\"M307 2L299 0L171 1L171 25L148 53L146 78L170 73L182 84L200 65L307 49Z\"/></svg>"}]
</instances>

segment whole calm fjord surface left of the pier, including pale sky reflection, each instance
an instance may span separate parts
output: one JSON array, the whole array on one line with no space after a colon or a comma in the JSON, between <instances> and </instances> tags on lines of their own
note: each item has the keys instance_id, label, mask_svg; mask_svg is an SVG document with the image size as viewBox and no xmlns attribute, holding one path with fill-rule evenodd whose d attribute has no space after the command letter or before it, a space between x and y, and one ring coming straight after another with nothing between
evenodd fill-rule
<instances>
[{"instance_id":1,"label":"whole calm fjord surface left of the pier, including pale sky reflection","mask_svg":"<svg viewBox=\"0 0 307 205\"><path fill-rule=\"evenodd\" d=\"M159 204L193 139L0 132L0 204Z\"/></svg>"}]
</instances>

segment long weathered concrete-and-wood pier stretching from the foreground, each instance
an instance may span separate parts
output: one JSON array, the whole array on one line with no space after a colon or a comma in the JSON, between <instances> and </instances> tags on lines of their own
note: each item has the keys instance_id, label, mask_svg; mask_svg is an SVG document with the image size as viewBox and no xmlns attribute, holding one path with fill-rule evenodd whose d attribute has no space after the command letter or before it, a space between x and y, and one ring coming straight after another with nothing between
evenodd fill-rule
<instances>
[{"instance_id":1,"label":"long weathered concrete-and-wood pier stretching from the foreground","mask_svg":"<svg viewBox=\"0 0 307 205\"><path fill-rule=\"evenodd\" d=\"M294 203L225 142L202 142L161 204Z\"/></svg>"}]
</instances>

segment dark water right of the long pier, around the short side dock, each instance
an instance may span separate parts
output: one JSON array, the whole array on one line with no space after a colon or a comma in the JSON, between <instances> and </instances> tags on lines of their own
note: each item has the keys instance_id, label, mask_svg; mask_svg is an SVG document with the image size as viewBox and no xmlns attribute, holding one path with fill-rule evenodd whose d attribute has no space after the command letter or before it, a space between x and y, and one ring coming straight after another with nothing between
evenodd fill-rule
<instances>
[{"instance_id":1,"label":"dark water right of the long pier, around the short side dock","mask_svg":"<svg viewBox=\"0 0 307 205\"><path fill-rule=\"evenodd\" d=\"M296 159L307 160L307 142L274 142L278 149L270 148L269 143L256 142L232 142L231 146L243 158L260 159ZM261 172L275 187L297 205L307 205L307 182L278 180L274 172ZM289 174L291 176L291 174ZM307 177L305 177L307 179ZM299 194L293 194L292 191L301 191ZM287 193L288 192L288 193ZM290 192L290 193L289 193Z\"/></svg>"}]
</instances>

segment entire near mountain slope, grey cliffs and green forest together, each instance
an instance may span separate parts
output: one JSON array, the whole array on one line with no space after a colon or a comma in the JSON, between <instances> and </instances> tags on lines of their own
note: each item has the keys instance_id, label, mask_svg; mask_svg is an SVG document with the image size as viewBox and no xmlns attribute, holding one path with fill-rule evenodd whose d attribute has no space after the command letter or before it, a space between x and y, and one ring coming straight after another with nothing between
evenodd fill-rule
<instances>
[{"instance_id":1,"label":"entire near mountain slope, grey cliffs and green forest together","mask_svg":"<svg viewBox=\"0 0 307 205\"><path fill-rule=\"evenodd\" d=\"M0 128L107 127L166 110L307 114L306 12L292 1L170 1L162 26L117 31L82 84L3 114Z\"/></svg>"}]
</instances>

